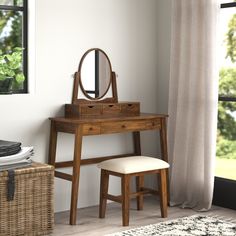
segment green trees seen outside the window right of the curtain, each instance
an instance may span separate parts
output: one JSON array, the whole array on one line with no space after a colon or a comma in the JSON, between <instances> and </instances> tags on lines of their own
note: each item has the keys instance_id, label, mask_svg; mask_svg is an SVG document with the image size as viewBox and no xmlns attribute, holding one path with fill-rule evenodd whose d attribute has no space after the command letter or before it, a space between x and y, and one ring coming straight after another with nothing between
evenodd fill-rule
<instances>
[{"instance_id":1,"label":"green trees seen outside the window right of the curtain","mask_svg":"<svg viewBox=\"0 0 236 236\"><path fill-rule=\"evenodd\" d=\"M236 14L228 24L226 58L236 62ZM236 67L220 71L219 95L236 98ZM220 101L218 105L217 157L236 160L236 102Z\"/></svg>"}]
</instances>

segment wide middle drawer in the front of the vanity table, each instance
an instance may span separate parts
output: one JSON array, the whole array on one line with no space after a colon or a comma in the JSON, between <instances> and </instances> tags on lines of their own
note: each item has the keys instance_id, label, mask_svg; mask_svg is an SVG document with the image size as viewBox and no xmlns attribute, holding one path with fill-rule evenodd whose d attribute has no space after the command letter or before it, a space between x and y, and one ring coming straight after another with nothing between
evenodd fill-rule
<instances>
[{"instance_id":1,"label":"wide middle drawer in the front of the vanity table","mask_svg":"<svg viewBox=\"0 0 236 236\"><path fill-rule=\"evenodd\" d=\"M101 124L101 133L119 133L147 129L146 121L118 121Z\"/></svg>"}]
</instances>

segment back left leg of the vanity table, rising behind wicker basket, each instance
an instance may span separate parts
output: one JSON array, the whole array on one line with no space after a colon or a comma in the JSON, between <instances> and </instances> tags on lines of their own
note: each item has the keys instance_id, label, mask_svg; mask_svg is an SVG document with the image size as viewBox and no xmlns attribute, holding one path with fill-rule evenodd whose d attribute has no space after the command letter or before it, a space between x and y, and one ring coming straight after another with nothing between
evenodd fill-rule
<instances>
[{"instance_id":1,"label":"back left leg of the vanity table, rising behind wicker basket","mask_svg":"<svg viewBox=\"0 0 236 236\"><path fill-rule=\"evenodd\" d=\"M55 166L56 161L56 147L57 147L57 130L54 121L51 121L50 129L50 141L49 141L49 155L48 164Z\"/></svg>"}]
</instances>

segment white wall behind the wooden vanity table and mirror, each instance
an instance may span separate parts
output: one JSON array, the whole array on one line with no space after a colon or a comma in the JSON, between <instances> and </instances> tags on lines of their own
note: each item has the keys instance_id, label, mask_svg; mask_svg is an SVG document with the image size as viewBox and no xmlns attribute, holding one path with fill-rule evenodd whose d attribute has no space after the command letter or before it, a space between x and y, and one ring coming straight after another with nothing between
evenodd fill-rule
<instances>
[{"instance_id":1,"label":"white wall behind the wooden vanity table and mirror","mask_svg":"<svg viewBox=\"0 0 236 236\"><path fill-rule=\"evenodd\" d=\"M46 162L48 117L62 115L63 104L71 102L71 74L92 47L109 55L118 74L120 101L140 101L145 112L166 112L170 1L36 0L35 77L29 78L35 82L35 91L0 96L0 139L33 145L34 160ZM83 141L84 158L131 150L130 134L85 137ZM158 153L156 133L144 132L142 141L145 154ZM60 134L58 142L58 159L71 159L73 136ZM119 191L118 183L113 179L113 192ZM98 194L99 171L96 166L82 167L79 207L97 204ZM69 206L70 183L56 179L56 211Z\"/></svg>"}]
</instances>

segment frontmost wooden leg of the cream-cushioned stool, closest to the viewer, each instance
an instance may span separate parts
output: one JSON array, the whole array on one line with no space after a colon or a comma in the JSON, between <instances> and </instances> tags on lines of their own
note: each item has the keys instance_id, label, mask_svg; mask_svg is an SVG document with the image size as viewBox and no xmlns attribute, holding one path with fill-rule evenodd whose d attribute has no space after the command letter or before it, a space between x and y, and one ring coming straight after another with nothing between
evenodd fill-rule
<instances>
[{"instance_id":1,"label":"frontmost wooden leg of the cream-cushioned stool, closest to the viewer","mask_svg":"<svg viewBox=\"0 0 236 236\"><path fill-rule=\"evenodd\" d=\"M123 226L129 225L129 191L130 176L123 175L121 177L121 193L122 193L122 223Z\"/></svg>"}]
</instances>

